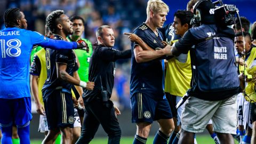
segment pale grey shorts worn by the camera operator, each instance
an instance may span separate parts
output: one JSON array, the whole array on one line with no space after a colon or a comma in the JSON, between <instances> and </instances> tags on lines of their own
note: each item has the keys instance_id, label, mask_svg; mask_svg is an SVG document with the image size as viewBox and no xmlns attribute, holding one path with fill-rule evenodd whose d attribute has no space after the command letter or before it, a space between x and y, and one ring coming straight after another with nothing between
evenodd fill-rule
<instances>
[{"instance_id":1,"label":"pale grey shorts worn by the camera operator","mask_svg":"<svg viewBox=\"0 0 256 144\"><path fill-rule=\"evenodd\" d=\"M203 132L210 119L213 131L236 134L237 110L236 95L220 101L206 101L190 97L182 112L181 128L188 132Z\"/></svg>"}]
</instances>

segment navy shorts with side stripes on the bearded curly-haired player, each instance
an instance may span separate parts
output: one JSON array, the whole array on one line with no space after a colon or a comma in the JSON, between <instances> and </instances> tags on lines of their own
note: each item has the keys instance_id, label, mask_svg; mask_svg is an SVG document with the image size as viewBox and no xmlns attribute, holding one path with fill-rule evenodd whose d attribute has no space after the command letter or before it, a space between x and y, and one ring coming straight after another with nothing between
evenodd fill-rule
<instances>
[{"instance_id":1,"label":"navy shorts with side stripes on the bearded curly-haired player","mask_svg":"<svg viewBox=\"0 0 256 144\"><path fill-rule=\"evenodd\" d=\"M54 90L44 100L44 108L47 117L48 129L59 127L74 127L74 104L71 93Z\"/></svg>"}]
</instances>

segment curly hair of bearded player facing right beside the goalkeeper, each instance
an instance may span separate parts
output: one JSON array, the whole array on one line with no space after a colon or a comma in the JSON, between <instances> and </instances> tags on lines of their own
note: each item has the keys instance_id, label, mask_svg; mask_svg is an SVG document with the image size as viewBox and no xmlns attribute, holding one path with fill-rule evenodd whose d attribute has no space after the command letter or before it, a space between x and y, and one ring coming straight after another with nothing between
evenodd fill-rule
<instances>
[{"instance_id":1,"label":"curly hair of bearded player facing right beside the goalkeeper","mask_svg":"<svg viewBox=\"0 0 256 144\"><path fill-rule=\"evenodd\" d=\"M51 12L46 18L46 25L53 34L57 30L57 22L61 14L64 14L63 10L55 10Z\"/></svg>"}]
</instances>

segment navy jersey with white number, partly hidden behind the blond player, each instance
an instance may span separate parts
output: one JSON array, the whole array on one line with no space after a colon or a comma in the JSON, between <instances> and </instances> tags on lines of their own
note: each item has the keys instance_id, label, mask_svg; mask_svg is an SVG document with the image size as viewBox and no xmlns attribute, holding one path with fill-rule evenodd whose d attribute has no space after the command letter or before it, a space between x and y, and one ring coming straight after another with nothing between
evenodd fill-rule
<instances>
[{"instance_id":1,"label":"navy jersey with white number, partly hidden behind the blond player","mask_svg":"<svg viewBox=\"0 0 256 144\"><path fill-rule=\"evenodd\" d=\"M164 35L163 41L167 42L168 44L171 43L171 41L180 39L180 35L176 35L174 31L174 27L172 26L172 23L169 23L168 25L165 25L163 28L159 28L159 31L161 31Z\"/></svg>"}]
</instances>

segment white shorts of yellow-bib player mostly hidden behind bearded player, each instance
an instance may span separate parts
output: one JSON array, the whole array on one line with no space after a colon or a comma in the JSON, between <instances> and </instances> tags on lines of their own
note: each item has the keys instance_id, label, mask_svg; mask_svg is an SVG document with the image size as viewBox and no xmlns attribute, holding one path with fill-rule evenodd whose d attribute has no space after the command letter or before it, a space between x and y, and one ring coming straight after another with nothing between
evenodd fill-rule
<instances>
[{"instance_id":1,"label":"white shorts of yellow-bib player mostly hidden behind bearded player","mask_svg":"<svg viewBox=\"0 0 256 144\"><path fill-rule=\"evenodd\" d=\"M74 114L75 114L74 115L74 119L75 119L74 127L81 127L81 122L80 122L80 118L77 113L77 109L74 109ZM46 131L49 131L46 115L40 115L38 132L44 133Z\"/></svg>"}]
</instances>

